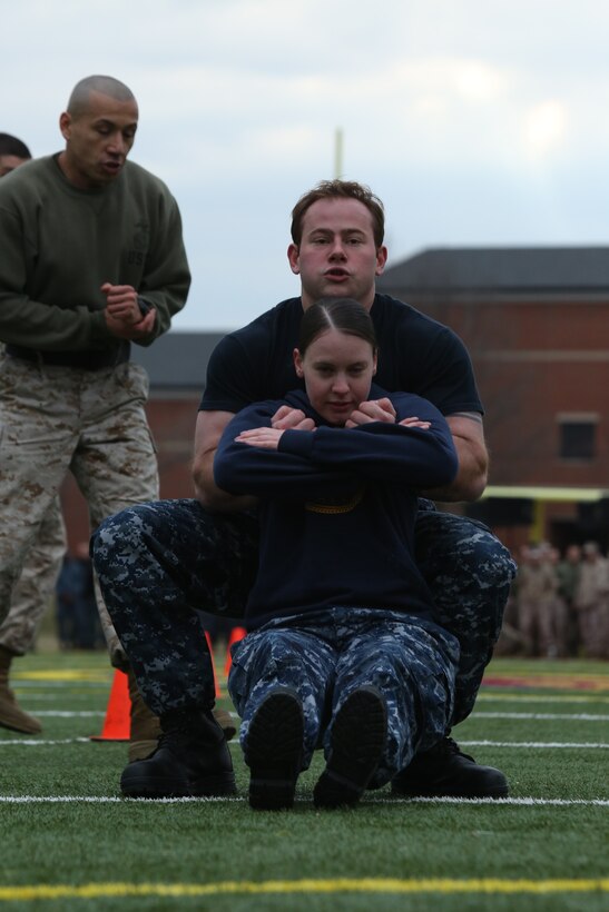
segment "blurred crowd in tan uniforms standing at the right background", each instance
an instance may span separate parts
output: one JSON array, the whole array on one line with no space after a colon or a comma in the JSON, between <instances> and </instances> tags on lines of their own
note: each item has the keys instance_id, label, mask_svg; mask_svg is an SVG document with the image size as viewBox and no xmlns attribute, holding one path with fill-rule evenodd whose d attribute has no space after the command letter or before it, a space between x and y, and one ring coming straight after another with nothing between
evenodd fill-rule
<instances>
[{"instance_id":1,"label":"blurred crowd in tan uniforms standing at the right background","mask_svg":"<svg viewBox=\"0 0 609 912\"><path fill-rule=\"evenodd\" d=\"M609 658L609 559L597 542L520 549L497 654Z\"/></svg>"}]
</instances>

